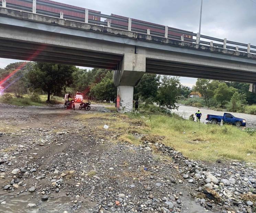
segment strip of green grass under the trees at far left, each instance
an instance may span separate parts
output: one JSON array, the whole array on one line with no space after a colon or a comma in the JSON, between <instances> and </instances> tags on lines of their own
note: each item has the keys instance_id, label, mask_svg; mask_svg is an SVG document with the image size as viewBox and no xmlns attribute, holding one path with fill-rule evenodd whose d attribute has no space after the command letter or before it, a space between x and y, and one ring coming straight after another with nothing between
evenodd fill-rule
<instances>
[{"instance_id":1,"label":"strip of green grass under the trees at far left","mask_svg":"<svg viewBox=\"0 0 256 213\"><path fill-rule=\"evenodd\" d=\"M6 103L16 106L44 106L46 105L47 95L40 95L40 101L32 101L28 95L24 95L23 98L16 98L13 96L10 100L4 99L3 97L0 97L0 103ZM52 97L51 98L51 104L60 104L63 103L63 98L61 97Z\"/></svg>"}]
</instances>

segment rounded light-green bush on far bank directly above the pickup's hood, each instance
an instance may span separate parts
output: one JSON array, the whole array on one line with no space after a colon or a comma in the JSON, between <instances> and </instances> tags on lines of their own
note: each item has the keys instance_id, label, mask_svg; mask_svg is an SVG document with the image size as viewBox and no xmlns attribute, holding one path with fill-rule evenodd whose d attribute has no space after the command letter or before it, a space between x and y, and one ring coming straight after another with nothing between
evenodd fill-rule
<instances>
[{"instance_id":1,"label":"rounded light-green bush on far bank directly above the pickup's hood","mask_svg":"<svg viewBox=\"0 0 256 213\"><path fill-rule=\"evenodd\" d=\"M226 107L228 111L237 112L238 110L242 110L246 103L246 95L236 91L231 97L230 102L226 104Z\"/></svg>"}]
</instances>

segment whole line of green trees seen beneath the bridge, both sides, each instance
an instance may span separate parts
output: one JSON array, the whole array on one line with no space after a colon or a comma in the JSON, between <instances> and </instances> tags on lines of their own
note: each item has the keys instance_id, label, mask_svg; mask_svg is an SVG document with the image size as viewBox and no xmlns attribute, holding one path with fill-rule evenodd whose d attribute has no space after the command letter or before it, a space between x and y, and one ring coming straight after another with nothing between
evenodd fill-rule
<instances>
[{"instance_id":1,"label":"whole line of green trees seen beneath the bridge, both sides","mask_svg":"<svg viewBox=\"0 0 256 213\"><path fill-rule=\"evenodd\" d=\"M75 94L79 91L98 100L113 101L116 87L112 75L113 71L106 69L86 70L64 64L17 62L0 69L0 83L5 87L5 92L12 92L17 98L22 98L26 93L34 98L37 94L46 93L47 101L50 101L53 95L63 97L65 93ZM198 102L198 107L237 111L245 104L256 103L256 94L248 89L249 84L246 83L197 79L192 90L200 92L202 98L187 101ZM140 99L145 105L158 103L160 107L175 109L178 97L188 98L190 92L188 87L180 84L178 77L146 73L134 87L134 99Z\"/></svg>"}]
</instances>

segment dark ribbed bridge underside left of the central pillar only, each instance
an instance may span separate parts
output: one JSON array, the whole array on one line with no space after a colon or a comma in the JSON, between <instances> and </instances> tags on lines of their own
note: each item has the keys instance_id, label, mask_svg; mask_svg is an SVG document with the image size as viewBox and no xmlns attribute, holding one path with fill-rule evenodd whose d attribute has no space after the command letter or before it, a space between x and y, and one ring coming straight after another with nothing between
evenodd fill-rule
<instances>
[{"instance_id":1,"label":"dark ribbed bridge underside left of the central pillar only","mask_svg":"<svg viewBox=\"0 0 256 213\"><path fill-rule=\"evenodd\" d=\"M25 61L53 62L76 66L116 70L122 55L86 51L42 43L0 39L0 58Z\"/></svg>"}]
</instances>

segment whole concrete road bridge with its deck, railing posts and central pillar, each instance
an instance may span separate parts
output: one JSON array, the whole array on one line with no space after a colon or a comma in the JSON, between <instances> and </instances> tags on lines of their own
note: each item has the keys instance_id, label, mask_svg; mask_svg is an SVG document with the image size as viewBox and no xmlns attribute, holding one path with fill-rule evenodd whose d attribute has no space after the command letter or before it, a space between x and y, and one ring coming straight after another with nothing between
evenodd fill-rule
<instances>
[{"instance_id":1,"label":"whole concrete road bridge with its deck, railing posts and central pillar","mask_svg":"<svg viewBox=\"0 0 256 213\"><path fill-rule=\"evenodd\" d=\"M234 51L223 41L204 45L198 37L187 42L0 7L0 58L114 70L121 112L132 111L144 73L246 82L256 92L255 46Z\"/></svg>"}]
</instances>

